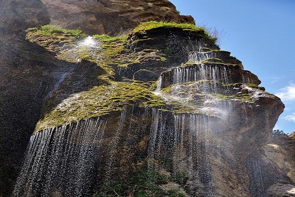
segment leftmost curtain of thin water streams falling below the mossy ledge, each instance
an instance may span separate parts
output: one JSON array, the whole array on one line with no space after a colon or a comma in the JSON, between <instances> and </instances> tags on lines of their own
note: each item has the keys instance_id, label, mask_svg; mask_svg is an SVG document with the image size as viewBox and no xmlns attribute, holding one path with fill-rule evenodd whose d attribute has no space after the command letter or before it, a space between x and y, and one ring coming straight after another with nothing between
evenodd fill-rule
<instances>
[{"instance_id":1,"label":"leftmost curtain of thin water streams falling below the mossy ledge","mask_svg":"<svg viewBox=\"0 0 295 197\"><path fill-rule=\"evenodd\" d=\"M85 197L106 121L90 118L32 135L13 197Z\"/></svg>"}]
</instances>

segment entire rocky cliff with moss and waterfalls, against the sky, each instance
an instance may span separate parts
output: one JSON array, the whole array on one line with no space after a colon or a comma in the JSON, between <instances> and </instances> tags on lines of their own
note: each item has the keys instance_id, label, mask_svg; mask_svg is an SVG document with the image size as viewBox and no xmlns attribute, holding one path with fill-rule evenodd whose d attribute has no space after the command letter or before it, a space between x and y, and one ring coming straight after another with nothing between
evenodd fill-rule
<instances>
[{"instance_id":1,"label":"entire rocky cliff with moss and waterfalls, against the sky","mask_svg":"<svg viewBox=\"0 0 295 197\"><path fill-rule=\"evenodd\" d=\"M3 197L293 195L283 103L169 1L3 5Z\"/></svg>"}]
</instances>

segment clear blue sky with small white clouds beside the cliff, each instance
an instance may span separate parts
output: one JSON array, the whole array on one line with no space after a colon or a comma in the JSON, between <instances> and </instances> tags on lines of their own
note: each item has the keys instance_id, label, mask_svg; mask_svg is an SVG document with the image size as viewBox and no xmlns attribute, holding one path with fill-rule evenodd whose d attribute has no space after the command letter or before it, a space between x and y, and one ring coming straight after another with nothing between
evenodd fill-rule
<instances>
[{"instance_id":1,"label":"clear blue sky with small white clouds beside the cliff","mask_svg":"<svg viewBox=\"0 0 295 197\"><path fill-rule=\"evenodd\" d=\"M197 25L220 32L220 48L232 52L284 102L274 129L295 131L295 0L170 1Z\"/></svg>"}]
</instances>

